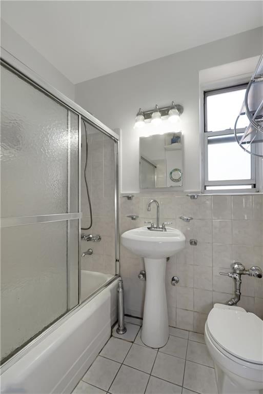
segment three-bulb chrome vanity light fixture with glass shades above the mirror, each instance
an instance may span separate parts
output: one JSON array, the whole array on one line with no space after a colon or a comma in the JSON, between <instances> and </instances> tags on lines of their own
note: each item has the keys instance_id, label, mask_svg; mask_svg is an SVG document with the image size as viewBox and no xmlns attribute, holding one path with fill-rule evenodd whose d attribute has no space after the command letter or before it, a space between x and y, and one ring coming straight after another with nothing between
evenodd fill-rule
<instances>
[{"instance_id":1,"label":"three-bulb chrome vanity light fixture with glass shades above the mirror","mask_svg":"<svg viewBox=\"0 0 263 394\"><path fill-rule=\"evenodd\" d=\"M169 107L161 107L155 105L154 109L149 111L143 111L139 109L136 118L134 128L139 128L144 126L145 123L151 122L154 125L161 123L162 117L168 117L171 123L177 123L179 121L179 116L184 112L184 107L180 104L175 104L174 101Z\"/></svg>"}]
</instances>

